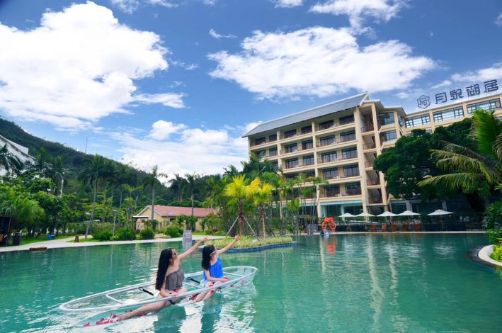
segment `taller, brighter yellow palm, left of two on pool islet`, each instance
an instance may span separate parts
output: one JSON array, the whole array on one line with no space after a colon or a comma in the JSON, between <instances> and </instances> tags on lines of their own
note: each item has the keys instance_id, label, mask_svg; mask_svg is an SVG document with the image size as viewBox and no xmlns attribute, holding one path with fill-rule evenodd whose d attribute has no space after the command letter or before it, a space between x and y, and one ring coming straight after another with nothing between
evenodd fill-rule
<instances>
[{"instance_id":1,"label":"taller, brighter yellow palm, left of two on pool islet","mask_svg":"<svg viewBox=\"0 0 502 333\"><path fill-rule=\"evenodd\" d=\"M244 234L244 205L247 201L253 198L255 188L260 183L260 179L256 178L247 184L246 176L234 176L232 182L227 184L224 188L224 195L236 201L237 212L239 219L239 233Z\"/></svg>"}]
</instances>

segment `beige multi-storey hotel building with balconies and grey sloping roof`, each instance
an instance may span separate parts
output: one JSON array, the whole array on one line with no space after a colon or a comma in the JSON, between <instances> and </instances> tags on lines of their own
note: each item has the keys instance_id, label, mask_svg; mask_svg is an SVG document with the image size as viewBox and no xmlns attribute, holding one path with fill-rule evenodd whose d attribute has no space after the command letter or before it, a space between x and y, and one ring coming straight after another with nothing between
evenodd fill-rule
<instances>
[{"instance_id":1,"label":"beige multi-storey hotel building with balconies and grey sloping roof","mask_svg":"<svg viewBox=\"0 0 502 333\"><path fill-rule=\"evenodd\" d=\"M426 97L418 98L418 106L430 105ZM302 203L317 205L319 217L378 215L387 210L400 213L413 209L411 202L388 193L384 174L373 169L375 159L411 130L433 132L471 117L479 108L495 111L502 118L501 98L502 94L477 96L406 115L402 107L384 106L365 92L261 123L244 137L249 153L268 159L286 179L305 174L327 182L315 200ZM443 208L447 208L445 203Z\"/></svg>"}]
</instances>

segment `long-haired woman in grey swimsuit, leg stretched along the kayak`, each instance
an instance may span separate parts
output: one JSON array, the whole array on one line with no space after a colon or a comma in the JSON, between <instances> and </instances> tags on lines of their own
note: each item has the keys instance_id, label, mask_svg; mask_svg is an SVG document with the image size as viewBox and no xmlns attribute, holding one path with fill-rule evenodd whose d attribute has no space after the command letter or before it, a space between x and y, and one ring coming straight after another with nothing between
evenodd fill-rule
<instances>
[{"instance_id":1,"label":"long-haired woman in grey swimsuit, leg stretched along the kayak","mask_svg":"<svg viewBox=\"0 0 502 333\"><path fill-rule=\"evenodd\" d=\"M173 248L162 250L159 258L159 269L157 269L157 278L155 281L155 289L159 290L159 295L157 297L164 298L186 293L186 289L183 288L185 273L181 268L181 261L190 256L190 254L192 254L200 246L200 244L202 244L202 242L207 241L207 239L207 237L200 239L195 243L195 245L193 245L193 247L190 247L190 249L186 250L186 252L179 255L176 253L176 249ZM181 298L179 300L181 300ZM117 320L129 319L130 317L144 315L148 312L157 312L172 304L174 304L173 301L169 300L166 302L154 302L143 305L142 307L139 307L139 309L118 316Z\"/></svg>"}]
</instances>

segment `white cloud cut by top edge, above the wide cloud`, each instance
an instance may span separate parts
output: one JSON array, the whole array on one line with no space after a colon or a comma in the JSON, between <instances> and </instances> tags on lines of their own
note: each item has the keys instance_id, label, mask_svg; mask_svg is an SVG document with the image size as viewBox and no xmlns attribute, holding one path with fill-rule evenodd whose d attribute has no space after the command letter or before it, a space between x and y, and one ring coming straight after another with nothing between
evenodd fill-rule
<instances>
[{"instance_id":1,"label":"white cloud cut by top edge, above the wide cloud","mask_svg":"<svg viewBox=\"0 0 502 333\"><path fill-rule=\"evenodd\" d=\"M347 15L350 26L360 29L367 18L389 21L406 6L407 0L326 0L315 4L309 11Z\"/></svg>"}]
</instances>

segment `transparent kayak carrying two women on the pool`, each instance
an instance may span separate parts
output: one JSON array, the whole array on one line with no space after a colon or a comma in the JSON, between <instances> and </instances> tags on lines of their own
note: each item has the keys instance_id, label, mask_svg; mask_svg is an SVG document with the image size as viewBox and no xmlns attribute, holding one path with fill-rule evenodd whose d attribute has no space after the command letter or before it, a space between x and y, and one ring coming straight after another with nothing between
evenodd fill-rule
<instances>
[{"instance_id":1,"label":"transparent kayak carrying two women on the pool","mask_svg":"<svg viewBox=\"0 0 502 333\"><path fill-rule=\"evenodd\" d=\"M158 291L155 290L155 283L146 282L70 300L67 303L59 305L59 310L66 312L117 310L125 307L130 308L148 303L166 302L169 300L178 302L186 298L193 298L194 295L198 295L207 290L227 293L251 283L256 273L258 273L258 269L252 266L230 266L225 267L223 272L224 276L229 278L229 281L219 284L218 286L207 288L203 288L200 283L200 281L202 281L202 271L186 274L185 280L183 281L183 287L186 288L188 292L181 295L165 298L156 297Z\"/></svg>"}]
</instances>

